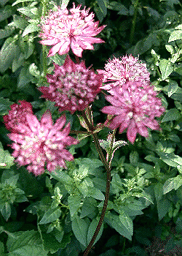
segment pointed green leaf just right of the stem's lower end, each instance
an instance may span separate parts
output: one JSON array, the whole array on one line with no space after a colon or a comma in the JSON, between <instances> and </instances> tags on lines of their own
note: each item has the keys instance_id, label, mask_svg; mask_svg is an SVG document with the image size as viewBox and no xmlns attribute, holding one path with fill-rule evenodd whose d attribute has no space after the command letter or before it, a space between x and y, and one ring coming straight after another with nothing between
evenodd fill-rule
<instances>
[{"instance_id":1,"label":"pointed green leaf just right of the stem's lower end","mask_svg":"<svg viewBox=\"0 0 182 256\"><path fill-rule=\"evenodd\" d=\"M106 223L113 227L120 235L124 236L125 238L132 240L131 233L127 230L127 228L122 224L119 219L119 216L116 214L111 214L111 212L106 213L105 217Z\"/></svg>"}]
</instances>

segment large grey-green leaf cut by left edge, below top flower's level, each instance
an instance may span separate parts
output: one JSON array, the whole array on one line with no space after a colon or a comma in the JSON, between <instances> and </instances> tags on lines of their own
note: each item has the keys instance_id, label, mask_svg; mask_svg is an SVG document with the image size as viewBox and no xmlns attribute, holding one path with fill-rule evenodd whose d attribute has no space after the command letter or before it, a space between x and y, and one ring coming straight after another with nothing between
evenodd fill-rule
<instances>
[{"instance_id":1,"label":"large grey-green leaf cut by left edge, below top flower's level","mask_svg":"<svg viewBox=\"0 0 182 256\"><path fill-rule=\"evenodd\" d=\"M5 72L19 54L19 46L15 44L15 40L12 37L8 37L0 51L0 72Z\"/></svg>"}]
</instances>

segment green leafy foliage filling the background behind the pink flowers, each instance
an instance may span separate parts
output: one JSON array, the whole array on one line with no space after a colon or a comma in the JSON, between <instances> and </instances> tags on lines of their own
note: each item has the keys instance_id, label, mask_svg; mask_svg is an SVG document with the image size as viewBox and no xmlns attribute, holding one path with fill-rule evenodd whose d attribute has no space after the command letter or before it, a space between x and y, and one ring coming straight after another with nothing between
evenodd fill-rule
<instances>
[{"instance_id":1,"label":"green leafy foliage filling the background behind the pink flowers","mask_svg":"<svg viewBox=\"0 0 182 256\"><path fill-rule=\"evenodd\" d=\"M73 1L0 0L0 255L82 255L97 226L106 190L106 173L92 138L71 147L68 170L35 177L17 167L4 127L13 102L25 99L38 118L52 102L37 87L44 78L39 44L42 13ZM182 9L178 0L76 1L106 24L105 44L85 51L87 67L103 69L111 56L140 56L151 72L166 113L162 130L120 147L111 169L108 210L90 255L182 255ZM46 9L45 9L46 7ZM45 49L48 53L48 48ZM74 56L71 55L72 58ZM48 59L63 64L65 56ZM92 105L95 124L105 121L103 95ZM82 130L76 114L66 113L71 129ZM106 140L109 129L98 132ZM116 134L116 140L126 135Z\"/></svg>"}]
</instances>

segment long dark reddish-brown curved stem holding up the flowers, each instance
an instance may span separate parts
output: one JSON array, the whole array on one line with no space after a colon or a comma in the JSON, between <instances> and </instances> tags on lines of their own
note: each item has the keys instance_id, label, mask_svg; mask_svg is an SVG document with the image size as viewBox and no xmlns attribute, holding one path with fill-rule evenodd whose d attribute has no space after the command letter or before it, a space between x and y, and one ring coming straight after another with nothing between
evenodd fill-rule
<instances>
[{"instance_id":1,"label":"long dark reddish-brown curved stem holding up the flowers","mask_svg":"<svg viewBox=\"0 0 182 256\"><path fill-rule=\"evenodd\" d=\"M82 116L84 118L85 123L87 124L87 127L90 130L94 131L94 127L93 127L92 124L90 124L90 121L88 120L86 114L82 113ZM107 209L107 206L108 206L108 197L109 197L109 190L110 190L110 183L111 183L111 170L110 170L110 167L108 165L108 162L106 161L106 159L105 159L105 157L103 155L103 151L102 151L102 148L100 147L100 143L98 141L98 136L96 135L96 133L92 132L92 138L94 140L95 147L96 147L96 149L98 151L99 157L100 157L101 161L103 162L104 167L106 168L106 173L107 173L107 178L106 178L106 194L105 194L105 199L104 199L104 202L103 202L103 209L102 209L102 212L101 212L101 215L100 215L100 219L99 219L98 225L97 225L97 227L95 229L95 233L93 234L90 243L87 246L87 249L84 252L84 256L87 256L89 254L90 249L92 248L92 245L94 244L95 239L98 236L98 233L100 231L100 227L103 224L103 219L105 217L106 209Z\"/></svg>"}]
</instances>

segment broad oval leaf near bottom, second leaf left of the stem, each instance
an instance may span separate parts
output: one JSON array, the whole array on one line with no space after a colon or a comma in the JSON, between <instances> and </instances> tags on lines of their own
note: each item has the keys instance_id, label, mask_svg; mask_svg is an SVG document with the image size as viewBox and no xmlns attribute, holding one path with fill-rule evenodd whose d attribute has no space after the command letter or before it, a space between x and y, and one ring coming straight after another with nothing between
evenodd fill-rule
<instances>
[{"instance_id":1,"label":"broad oval leaf near bottom, second leaf left of the stem","mask_svg":"<svg viewBox=\"0 0 182 256\"><path fill-rule=\"evenodd\" d=\"M85 247L87 246L87 232L90 226L90 221L80 219L78 216L72 221L72 230L74 236L79 240Z\"/></svg>"}]
</instances>

